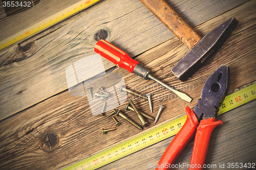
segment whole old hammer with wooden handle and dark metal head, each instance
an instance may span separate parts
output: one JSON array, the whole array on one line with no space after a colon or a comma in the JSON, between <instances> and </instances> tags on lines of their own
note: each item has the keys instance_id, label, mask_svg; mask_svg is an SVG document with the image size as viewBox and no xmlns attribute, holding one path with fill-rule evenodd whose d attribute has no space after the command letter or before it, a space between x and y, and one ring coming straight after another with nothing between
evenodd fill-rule
<instances>
[{"instance_id":1,"label":"whole old hammer with wooden handle and dark metal head","mask_svg":"<svg viewBox=\"0 0 256 170\"><path fill-rule=\"evenodd\" d=\"M173 74L186 81L223 45L238 25L231 17L216 29L200 37L164 0L140 0L170 31L191 49L173 68Z\"/></svg>"}]
</instances>

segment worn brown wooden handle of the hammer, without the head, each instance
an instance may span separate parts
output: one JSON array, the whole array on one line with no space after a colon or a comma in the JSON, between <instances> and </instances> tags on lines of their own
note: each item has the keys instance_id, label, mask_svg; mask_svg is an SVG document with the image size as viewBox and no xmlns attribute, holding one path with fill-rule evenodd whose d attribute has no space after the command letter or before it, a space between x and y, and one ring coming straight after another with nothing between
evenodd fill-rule
<instances>
[{"instance_id":1,"label":"worn brown wooden handle of the hammer, without the head","mask_svg":"<svg viewBox=\"0 0 256 170\"><path fill-rule=\"evenodd\" d=\"M189 49L201 40L200 35L198 35L164 0L140 0L140 2Z\"/></svg>"}]
</instances>

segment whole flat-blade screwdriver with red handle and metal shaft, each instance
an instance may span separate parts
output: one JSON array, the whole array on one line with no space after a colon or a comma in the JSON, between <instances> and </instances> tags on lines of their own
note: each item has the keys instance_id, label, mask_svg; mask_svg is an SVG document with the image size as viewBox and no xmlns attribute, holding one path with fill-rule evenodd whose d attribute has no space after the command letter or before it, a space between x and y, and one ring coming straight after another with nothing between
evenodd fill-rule
<instances>
[{"instance_id":1,"label":"whole flat-blade screwdriver with red handle and metal shaft","mask_svg":"<svg viewBox=\"0 0 256 170\"><path fill-rule=\"evenodd\" d=\"M106 40L99 40L95 47L94 51L100 56L104 57L105 59L109 60L110 62L114 63L116 66L126 69L127 71L134 73L145 80L151 79L157 82L158 84L162 85L163 87L173 91L177 94L182 100L187 102L191 102L191 98L188 95L175 90L174 88L168 86L167 84L161 82L157 78L152 75L152 72L146 69L144 66L139 64L138 61L132 59L127 53L120 50L118 47L114 46L113 44L109 43Z\"/></svg>"}]
</instances>

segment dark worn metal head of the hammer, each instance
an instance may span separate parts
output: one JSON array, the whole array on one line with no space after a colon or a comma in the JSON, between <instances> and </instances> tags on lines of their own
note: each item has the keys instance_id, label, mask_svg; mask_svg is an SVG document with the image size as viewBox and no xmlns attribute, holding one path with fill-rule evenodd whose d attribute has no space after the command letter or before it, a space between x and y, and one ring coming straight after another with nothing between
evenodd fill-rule
<instances>
[{"instance_id":1,"label":"dark worn metal head of the hammer","mask_svg":"<svg viewBox=\"0 0 256 170\"><path fill-rule=\"evenodd\" d=\"M234 17L226 20L219 27L206 34L191 50L172 68L173 74L181 81L186 81L223 45L231 32L238 25Z\"/></svg>"}]
</instances>

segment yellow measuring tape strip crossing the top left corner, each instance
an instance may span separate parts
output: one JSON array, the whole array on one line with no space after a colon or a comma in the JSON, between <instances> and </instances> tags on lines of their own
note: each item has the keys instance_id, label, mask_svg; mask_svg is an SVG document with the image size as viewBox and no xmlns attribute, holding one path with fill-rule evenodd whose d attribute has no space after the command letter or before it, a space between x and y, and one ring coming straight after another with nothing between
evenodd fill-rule
<instances>
[{"instance_id":1,"label":"yellow measuring tape strip crossing the top left corner","mask_svg":"<svg viewBox=\"0 0 256 170\"><path fill-rule=\"evenodd\" d=\"M84 8L87 8L90 5L92 5L98 1L100 1L100 0L83 0L83 1L80 1L74 5L66 8L66 9L63 9L63 10L57 12L56 14L35 23L34 25L26 28L25 30L20 31L20 32L8 37L7 39L4 39L3 41L0 42L0 50L2 50L3 48L5 48L11 44L14 44L15 42L17 42L19 40L22 40L34 33L37 33L40 30L45 29L45 28L53 25L54 23L66 18Z\"/></svg>"}]
</instances>

